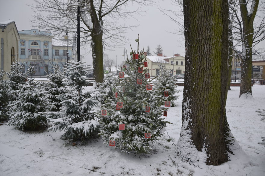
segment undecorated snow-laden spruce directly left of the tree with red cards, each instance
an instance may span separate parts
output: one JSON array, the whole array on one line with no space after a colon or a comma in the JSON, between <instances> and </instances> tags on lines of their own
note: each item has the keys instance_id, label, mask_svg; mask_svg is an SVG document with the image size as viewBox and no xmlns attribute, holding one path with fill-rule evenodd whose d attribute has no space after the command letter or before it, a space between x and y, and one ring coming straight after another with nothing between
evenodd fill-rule
<instances>
[{"instance_id":1,"label":"undecorated snow-laden spruce directly left of the tree with red cards","mask_svg":"<svg viewBox=\"0 0 265 176\"><path fill-rule=\"evenodd\" d=\"M82 93L83 86L87 86L91 81L85 75L90 66L85 67L83 62L69 61L66 63L65 71L68 75L67 86L69 93L57 96L62 104L60 118L48 120L52 122L52 127L48 130L65 130L63 139L84 139L94 137L98 134L99 123L95 120L95 115L91 112L96 103L89 92Z\"/></svg>"}]
</instances>

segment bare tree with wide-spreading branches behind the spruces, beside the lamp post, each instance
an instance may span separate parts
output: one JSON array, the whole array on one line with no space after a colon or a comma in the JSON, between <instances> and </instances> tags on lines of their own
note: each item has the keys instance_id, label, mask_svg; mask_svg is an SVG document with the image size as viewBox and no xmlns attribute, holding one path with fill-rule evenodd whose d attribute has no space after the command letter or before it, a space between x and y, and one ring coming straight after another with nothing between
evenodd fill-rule
<instances>
[{"instance_id":1,"label":"bare tree with wide-spreading branches behind the spruces, beside the lamp post","mask_svg":"<svg viewBox=\"0 0 265 176\"><path fill-rule=\"evenodd\" d=\"M117 25L117 19L127 19L141 12L140 8L151 2L152 0L35 0L35 5L32 5L36 12L33 22L36 27L50 30L60 37L66 32L75 34L77 6L79 6L80 40L83 44L91 43L93 68L96 68L95 80L103 82L103 47L124 43L123 32L133 27ZM136 7L134 4L139 4L141 7ZM132 10L128 10L127 6L131 6Z\"/></svg>"}]
</instances>

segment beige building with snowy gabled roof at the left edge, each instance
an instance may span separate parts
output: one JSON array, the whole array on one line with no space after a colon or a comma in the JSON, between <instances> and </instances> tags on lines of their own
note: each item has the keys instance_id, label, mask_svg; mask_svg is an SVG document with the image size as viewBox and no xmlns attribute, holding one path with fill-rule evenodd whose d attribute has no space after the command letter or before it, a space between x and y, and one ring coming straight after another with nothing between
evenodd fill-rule
<instances>
[{"instance_id":1,"label":"beige building with snowy gabled roof at the left edge","mask_svg":"<svg viewBox=\"0 0 265 176\"><path fill-rule=\"evenodd\" d=\"M0 22L0 68L9 72L12 62L18 60L19 33L14 21Z\"/></svg>"}]
</instances>

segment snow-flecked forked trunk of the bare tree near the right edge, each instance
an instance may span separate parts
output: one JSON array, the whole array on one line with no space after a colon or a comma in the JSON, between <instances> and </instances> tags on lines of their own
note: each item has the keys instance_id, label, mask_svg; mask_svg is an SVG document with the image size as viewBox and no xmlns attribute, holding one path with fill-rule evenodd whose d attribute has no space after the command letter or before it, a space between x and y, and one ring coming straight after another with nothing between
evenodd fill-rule
<instances>
[{"instance_id":1,"label":"snow-flecked forked trunk of the bare tree near the right edge","mask_svg":"<svg viewBox=\"0 0 265 176\"><path fill-rule=\"evenodd\" d=\"M241 62L241 84L239 97L242 94L252 96L251 75L252 75L252 45L253 45L253 22L257 13L259 0L253 0L251 10L248 12L245 0L239 0L240 13L243 22L243 44L242 44L242 62Z\"/></svg>"}]
</instances>

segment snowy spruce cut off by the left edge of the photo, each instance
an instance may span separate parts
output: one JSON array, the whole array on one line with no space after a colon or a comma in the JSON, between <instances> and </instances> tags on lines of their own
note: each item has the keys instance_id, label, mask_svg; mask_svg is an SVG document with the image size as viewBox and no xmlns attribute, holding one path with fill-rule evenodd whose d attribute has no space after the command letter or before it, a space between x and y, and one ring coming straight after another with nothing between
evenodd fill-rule
<instances>
[{"instance_id":1,"label":"snowy spruce cut off by the left edge of the photo","mask_svg":"<svg viewBox=\"0 0 265 176\"><path fill-rule=\"evenodd\" d=\"M12 94L9 89L9 81L4 79L4 70L0 70L0 120L8 119L7 103Z\"/></svg>"}]
</instances>

